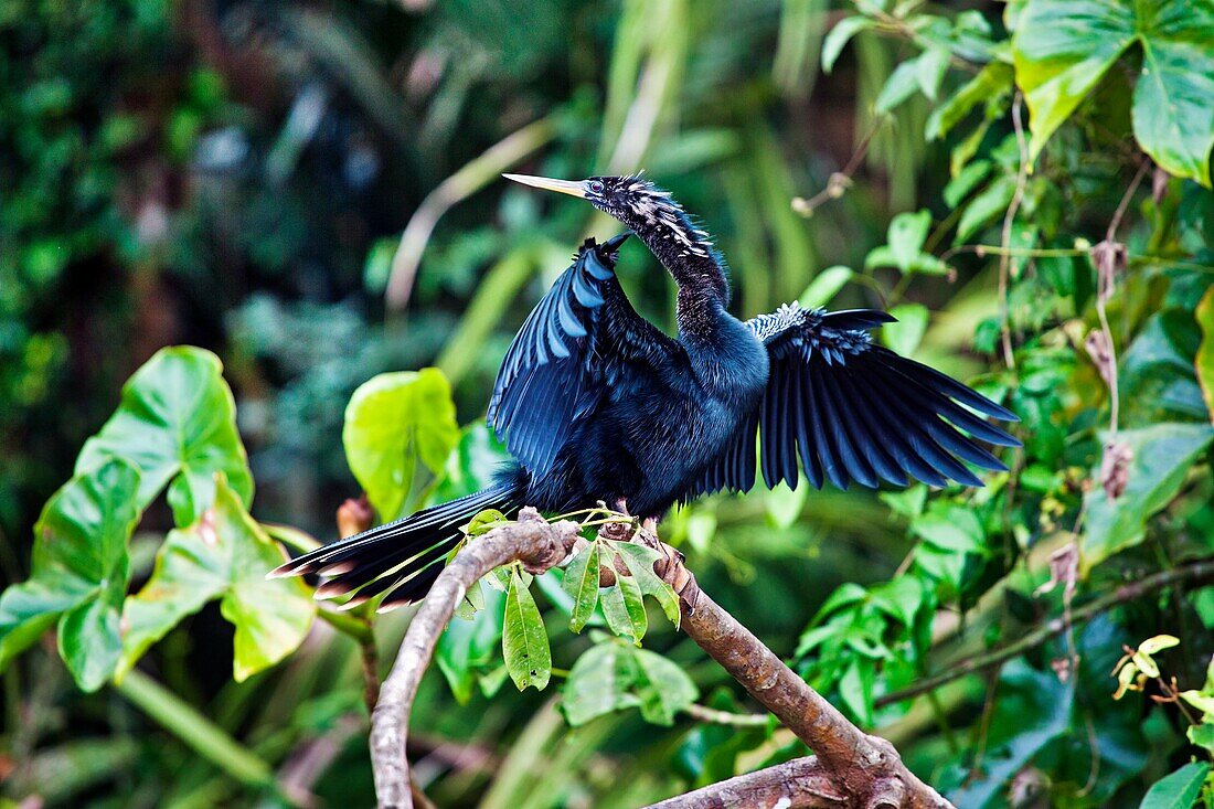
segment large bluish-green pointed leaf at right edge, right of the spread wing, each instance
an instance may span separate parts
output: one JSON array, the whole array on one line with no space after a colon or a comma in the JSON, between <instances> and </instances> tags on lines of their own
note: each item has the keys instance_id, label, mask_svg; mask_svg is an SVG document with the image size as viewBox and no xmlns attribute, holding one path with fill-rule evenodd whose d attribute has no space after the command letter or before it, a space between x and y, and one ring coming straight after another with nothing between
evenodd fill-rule
<instances>
[{"instance_id":1,"label":"large bluish-green pointed leaf at right edge, right of the spread wing","mask_svg":"<svg viewBox=\"0 0 1214 809\"><path fill-rule=\"evenodd\" d=\"M1088 493L1087 526L1082 545L1084 575L1114 553L1136 545L1146 537L1146 521L1180 491L1190 466L1202 457L1214 439L1206 424L1156 424L1117 434L1134 453L1129 482L1116 500L1102 486ZM1099 463L1093 476L1099 475Z\"/></svg>"}]
</instances>

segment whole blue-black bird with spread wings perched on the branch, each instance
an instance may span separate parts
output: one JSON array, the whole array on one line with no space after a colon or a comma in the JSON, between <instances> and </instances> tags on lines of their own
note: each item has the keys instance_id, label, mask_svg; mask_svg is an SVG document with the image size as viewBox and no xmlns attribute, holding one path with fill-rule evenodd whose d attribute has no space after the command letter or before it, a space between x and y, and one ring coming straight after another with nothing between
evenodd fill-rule
<instances>
[{"instance_id":1,"label":"whole blue-black bird with spread wings perched on the branch","mask_svg":"<svg viewBox=\"0 0 1214 809\"><path fill-rule=\"evenodd\" d=\"M460 526L522 505L599 500L656 521L674 503L764 481L981 486L960 460L1005 470L987 449L1019 442L981 417L1016 415L869 338L895 318L785 304L739 321L725 261L682 208L639 176L580 182L505 175L586 199L630 232L586 242L527 317L498 372L488 423L514 463L497 483L300 556L274 575L319 573L318 596L425 596ZM615 278L636 234L679 284L679 336L640 317ZM758 452L756 452L758 447Z\"/></svg>"}]
</instances>

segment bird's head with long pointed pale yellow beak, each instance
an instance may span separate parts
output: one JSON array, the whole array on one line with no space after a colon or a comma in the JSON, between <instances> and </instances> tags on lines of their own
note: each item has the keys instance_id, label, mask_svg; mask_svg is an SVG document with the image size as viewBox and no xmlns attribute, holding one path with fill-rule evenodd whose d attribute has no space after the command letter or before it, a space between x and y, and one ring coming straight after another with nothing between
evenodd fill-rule
<instances>
[{"instance_id":1,"label":"bird's head with long pointed pale yellow beak","mask_svg":"<svg viewBox=\"0 0 1214 809\"><path fill-rule=\"evenodd\" d=\"M662 259L679 254L686 259L709 259L713 243L698 230L687 213L670 197L640 175L552 180L524 174L505 174L524 186L556 191L585 199L605 214L630 227ZM669 262L664 261L665 264Z\"/></svg>"}]
</instances>

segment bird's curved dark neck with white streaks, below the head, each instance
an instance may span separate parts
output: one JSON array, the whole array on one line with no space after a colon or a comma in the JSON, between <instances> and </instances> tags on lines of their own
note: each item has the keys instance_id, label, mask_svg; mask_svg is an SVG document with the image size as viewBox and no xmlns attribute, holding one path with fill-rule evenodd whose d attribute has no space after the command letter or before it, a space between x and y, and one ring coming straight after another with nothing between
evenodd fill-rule
<instances>
[{"instance_id":1,"label":"bird's curved dark neck with white streaks, below the head","mask_svg":"<svg viewBox=\"0 0 1214 809\"><path fill-rule=\"evenodd\" d=\"M710 339L730 302L730 279L708 233L679 216L626 222L679 284L676 317L682 339ZM657 221L654 221L657 220Z\"/></svg>"}]
</instances>

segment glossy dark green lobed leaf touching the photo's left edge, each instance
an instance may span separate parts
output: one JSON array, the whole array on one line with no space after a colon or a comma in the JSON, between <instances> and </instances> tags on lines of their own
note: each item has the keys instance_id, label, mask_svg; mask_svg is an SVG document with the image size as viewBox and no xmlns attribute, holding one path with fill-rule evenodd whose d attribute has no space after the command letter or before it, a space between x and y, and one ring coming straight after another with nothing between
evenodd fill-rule
<instances>
[{"instance_id":1,"label":"glossy dark green lobed leaf touching the photo's left edge","mask_svg":"<svg viewBox=\"0 0 1214 809\"><path fill-rule=\"evenodd\" d=\"M121 652L138 491L138 470L114 458L46 503L34 526L30 577L0 596L0 669L58 621L59 654L76 684L95 691L109 679Z\"/></svg>"}]
</instances>

